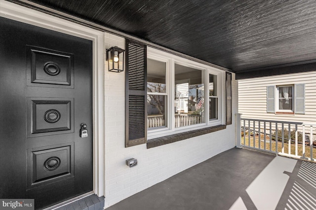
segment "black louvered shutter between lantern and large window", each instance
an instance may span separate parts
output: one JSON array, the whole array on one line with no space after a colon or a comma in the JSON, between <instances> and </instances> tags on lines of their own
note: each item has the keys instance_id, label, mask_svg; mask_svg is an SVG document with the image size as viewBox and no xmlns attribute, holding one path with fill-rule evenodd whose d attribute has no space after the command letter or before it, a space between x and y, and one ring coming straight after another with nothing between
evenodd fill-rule
<instances>
[{"instance_id":1,"label":"black louvered shutter between lantern and large window","mask_svg":"<svg viewBox=\"0 0 316 210\"><path fill-rule=\"evenodd\" d=\"M147 140L146 45L126 39L125 147Z\"/></svg>"}]
</instances>

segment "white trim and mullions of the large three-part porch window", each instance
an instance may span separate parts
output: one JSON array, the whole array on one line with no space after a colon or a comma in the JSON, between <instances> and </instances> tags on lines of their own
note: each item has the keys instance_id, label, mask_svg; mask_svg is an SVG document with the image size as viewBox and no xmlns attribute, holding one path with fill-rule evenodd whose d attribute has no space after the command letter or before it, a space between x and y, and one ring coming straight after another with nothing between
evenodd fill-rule
<instances>
[{"instance_id":1,"label":"white trim and mullions of the large three-part porch window","mask_svg":"<svg viewBox=\"0 0 316 210\"><path fill-rule=\"evenodd\" d=\"M181 133L183 131L191 131L199 128L205 128L220 124L225 124L225 71L198 63L193 60L184 59L178 56L175 56L170 53L163 52L158 49L147 47L147 58L152 60L158 60L166 62L166 92L167 92L167 126L157 129L149 129L147 132L147 138L153 139L166 135L172 135L176 133ZM218 119L209 120L209 100L208 100L208 90L204 91L204 103L205 103L205 122L190 126L178 127L175 128L175 118L172 117L175 115L174 110L174 86L175 86L175 64L191 67L194 69L201 70L202 78L204 79L204 87L208 87L209 84L209 74L217 76L217 95L218 95Z\"/></svg>"}]
</instances>

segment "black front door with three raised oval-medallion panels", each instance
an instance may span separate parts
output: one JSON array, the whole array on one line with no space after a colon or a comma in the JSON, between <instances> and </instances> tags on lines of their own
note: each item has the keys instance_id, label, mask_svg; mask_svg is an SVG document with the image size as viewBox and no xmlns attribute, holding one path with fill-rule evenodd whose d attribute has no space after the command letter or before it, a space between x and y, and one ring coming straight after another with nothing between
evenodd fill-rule
<instances>
[{"instance_id":1,"label":"black front door with three raised oval-medallion panels","mask_svg":"<svg viewBox=\"0 0 316 210\"><path fill-rule=\"evenodd\" d=\"M92 191L92 133L92 41L0 18L0 198Z\"/></svg>"}]
</instances>

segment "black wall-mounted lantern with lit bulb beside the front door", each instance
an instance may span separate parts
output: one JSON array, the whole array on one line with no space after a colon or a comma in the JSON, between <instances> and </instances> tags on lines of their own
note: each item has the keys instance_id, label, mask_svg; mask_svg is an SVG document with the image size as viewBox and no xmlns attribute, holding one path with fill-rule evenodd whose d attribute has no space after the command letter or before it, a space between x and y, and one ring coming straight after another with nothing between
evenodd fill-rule
<instances>
[{"instance_id":1,"label":"black wall-mounted lantern with lit bulb beside the front door","mask_svg":"<svg viewBox=\"0 0 316 210\"><path fill-rule=\"evenodd\" d=\"M107 49L107 61L109 65L109 71L124 71L124 51L125 50L120 49L117 46Z\"/></svg>"}]
</instances>

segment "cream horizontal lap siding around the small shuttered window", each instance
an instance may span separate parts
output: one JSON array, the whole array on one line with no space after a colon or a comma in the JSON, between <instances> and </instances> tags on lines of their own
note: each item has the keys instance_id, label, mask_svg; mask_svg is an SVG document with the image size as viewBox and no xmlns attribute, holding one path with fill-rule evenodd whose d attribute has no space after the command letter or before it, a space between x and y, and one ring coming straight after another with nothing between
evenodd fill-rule
<instances>
[{"instance_id":1,"label":"cream horizontal lap siding around the small shuttered window","mask_svg":"<svg viewBox=\"0 0 316 210\"><path fill-rule=\"evenodd\" d=\"M267 113L267 87L305 84L305 114ZM316 123L316 71L238 80L242 118Z\"/></svg>"}]
</instances>

